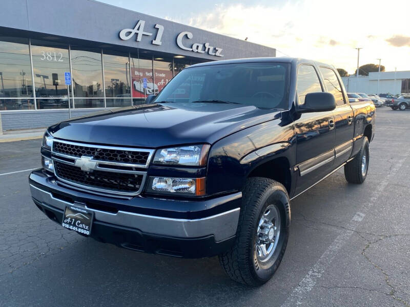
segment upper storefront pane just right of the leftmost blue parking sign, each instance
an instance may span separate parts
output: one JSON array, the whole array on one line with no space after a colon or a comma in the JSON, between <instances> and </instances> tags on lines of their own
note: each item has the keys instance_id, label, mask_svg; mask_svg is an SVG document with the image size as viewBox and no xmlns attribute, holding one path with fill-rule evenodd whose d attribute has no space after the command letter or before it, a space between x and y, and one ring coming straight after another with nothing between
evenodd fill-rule
<instances>
[{"instance_id":1,"label":"upper storefront pane just right of the leftmost blue parking sign","mask_svg":"<svg viewBox=\"0 0 410 307\"><path fill-rule=\"evenodd\" d=\"M100 50L72 47L71 67L74 97L104 97Z\"/></svg>"}]
</instances>

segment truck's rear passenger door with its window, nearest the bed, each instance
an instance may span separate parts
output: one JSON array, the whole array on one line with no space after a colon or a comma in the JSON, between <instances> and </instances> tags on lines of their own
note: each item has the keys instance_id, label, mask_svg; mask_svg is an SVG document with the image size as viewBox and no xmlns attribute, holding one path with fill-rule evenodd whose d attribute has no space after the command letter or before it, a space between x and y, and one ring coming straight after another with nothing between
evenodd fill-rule
<instances>
[{"instance_id":1,"label":"truck's rear passenger door with its window, nearest the bed","mask_svg":"<svg viewBox=\"0 0 410 307\"><path fill-rule=\"evenodd\" d=\"M327 92L336 100L335 116L335 163L334 168L343 164L350 157L353 148L353 109L346 101L344 87L334 69L320 67L320 73Z\"/></svg>"}]
</instances>

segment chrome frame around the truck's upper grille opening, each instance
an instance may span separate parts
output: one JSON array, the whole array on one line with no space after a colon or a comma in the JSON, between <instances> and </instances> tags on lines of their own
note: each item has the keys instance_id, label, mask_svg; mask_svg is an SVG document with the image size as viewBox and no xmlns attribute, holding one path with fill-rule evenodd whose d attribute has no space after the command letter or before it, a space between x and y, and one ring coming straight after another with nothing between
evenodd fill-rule
<instances>
[{"instance_id":1,"label":"chrome frame around the truck's upper grille opening","mask_svg":"<svg viewBox=\"0 0 410 307\"><path fill-rule=\"evenodd\" d=\"M53 139L53 146L51 148L51 152L53 153L53 155L57 155L57 156L60 156L60 157L65 157L65 158L70 158L70 159L79 159L80 157L69 156L69 155L65 155L64 153L55 152L54 151L54 142L70 144L70 145L75 145L75 146L83 146L83 147L148 152L148 158L147 158L147 163L146 164L134 164L134 163L121 163L121 162L94 160L94 161L99 162L99 163L105 163L105 164L117 165L117 166L131 166L131 167L144 167L144 168L147 168L148 165L151 162L152 156L154 155L154 151L155 151L155 149L95 145L95 144L89 144L89 143L77 143L77 142Z\"/></svg>"}]
</instances>

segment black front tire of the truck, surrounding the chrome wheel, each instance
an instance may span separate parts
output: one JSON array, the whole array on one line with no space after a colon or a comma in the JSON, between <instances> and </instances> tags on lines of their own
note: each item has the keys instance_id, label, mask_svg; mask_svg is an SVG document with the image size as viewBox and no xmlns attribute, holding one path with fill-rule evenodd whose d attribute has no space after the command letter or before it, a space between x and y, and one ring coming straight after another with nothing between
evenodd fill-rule
<instances>
[{"instance_id":1,"label":"black front tire of the truck, surrounding the chrome wheel","mask_svg":"<svg viewBox=\"0 0 410 307\"><path fill-rule=\"evenodd\" d=\"M288 244L291 218L289 195L279 182L261 177L249 178L242 195L234 246L219 255L219 262L233 280L260 286L273 276ZM256 255L256 233L260 229L261 216L270 205L274 205L280 213L279 238L271 257L260 262Z\"/></svg>"}]
</instances>

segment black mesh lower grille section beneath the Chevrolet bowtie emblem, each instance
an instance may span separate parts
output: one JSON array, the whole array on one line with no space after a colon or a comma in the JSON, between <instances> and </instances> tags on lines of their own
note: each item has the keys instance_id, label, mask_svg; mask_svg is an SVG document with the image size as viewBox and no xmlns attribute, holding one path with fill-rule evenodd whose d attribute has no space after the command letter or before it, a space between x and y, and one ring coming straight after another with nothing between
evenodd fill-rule
<instances>
[{"instance_id":1,"label":"black mesh lower grille section beneath the Chevrolet bowtie emblem","mask_svg":"<svg viewBox=\"0 0 410 307\"><path fill-rule=\"evenodd\" d=\"M85 188L99 188L113 192L136 193L144 175L117 173L101 170L83 171L79 167L54 161L54 171L58 178L83 185Z\"/></svg>"}]
</instances>

